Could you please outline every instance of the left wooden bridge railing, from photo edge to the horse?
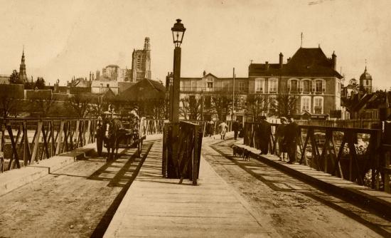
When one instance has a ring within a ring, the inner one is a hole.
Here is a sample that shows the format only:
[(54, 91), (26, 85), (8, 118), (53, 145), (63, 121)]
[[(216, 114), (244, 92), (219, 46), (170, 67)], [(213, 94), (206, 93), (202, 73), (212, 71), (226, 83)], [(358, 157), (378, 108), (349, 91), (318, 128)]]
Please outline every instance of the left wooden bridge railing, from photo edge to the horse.
[(39, 160), (95, 142), (97, 120), (90, 118), (0, 119), (0, 171), (31, 165)]

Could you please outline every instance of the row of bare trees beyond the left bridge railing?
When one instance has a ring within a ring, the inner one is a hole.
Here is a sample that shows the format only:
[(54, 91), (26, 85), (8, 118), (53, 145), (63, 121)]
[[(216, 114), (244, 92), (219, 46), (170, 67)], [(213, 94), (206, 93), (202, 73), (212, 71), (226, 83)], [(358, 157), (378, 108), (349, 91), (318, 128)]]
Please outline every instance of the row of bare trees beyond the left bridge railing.
[(30, 114), (33, 117), (97, 117), (114, 105), (115, 113), (126, 114), (134, 106), (140, 115), (161, 119), (166, 116), (166, 100), (121, 101), (102, 95), (74, 94), (66, 100), (55, 98), (16, 98), (12, 93), (0, 93), (0, 111), (3, 118)]

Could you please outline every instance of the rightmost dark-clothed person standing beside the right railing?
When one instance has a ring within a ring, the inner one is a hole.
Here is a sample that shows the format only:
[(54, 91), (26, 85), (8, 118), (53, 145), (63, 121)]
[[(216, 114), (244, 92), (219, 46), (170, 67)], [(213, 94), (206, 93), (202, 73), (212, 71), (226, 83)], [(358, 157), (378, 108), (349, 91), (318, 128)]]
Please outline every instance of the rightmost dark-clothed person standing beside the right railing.
[(289, 164), (296, 162), (297, 138), (299, 135), (299, 125), (294, 122), (294, 118), (288, 118), (289, 124), (285, 126), (284, 130), (284, 145), (286, 152), (288, 152)]

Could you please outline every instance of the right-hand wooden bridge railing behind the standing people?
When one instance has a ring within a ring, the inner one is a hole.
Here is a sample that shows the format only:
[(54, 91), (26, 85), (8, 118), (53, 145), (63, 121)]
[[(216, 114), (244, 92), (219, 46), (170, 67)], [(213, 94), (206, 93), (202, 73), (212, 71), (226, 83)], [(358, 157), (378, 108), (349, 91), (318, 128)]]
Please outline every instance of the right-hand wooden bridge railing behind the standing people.
[[(259, 149), (259, 123), (245, 123), (245, 145)], [(279, 124), (271, 124), (269, 151), (275, 152), (274, 132)], [(380, 158), (382, 130), (299, 125), (296, 161), (328, 172), (359, 185), (380, 188), (380, 172), (385, 163)], [(387, 170), (390, 171), (390, 170)]]

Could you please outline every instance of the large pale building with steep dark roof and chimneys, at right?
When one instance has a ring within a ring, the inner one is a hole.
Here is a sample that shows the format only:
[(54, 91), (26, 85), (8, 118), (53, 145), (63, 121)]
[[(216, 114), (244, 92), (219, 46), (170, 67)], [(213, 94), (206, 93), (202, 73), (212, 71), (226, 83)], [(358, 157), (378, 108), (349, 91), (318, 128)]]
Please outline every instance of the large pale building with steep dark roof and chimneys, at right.
[(299, 48), (284, 63), (251, 63), (249, 93), (266, 95), (268, 100), (287, 93), (297, 97), (296, 114), (330, 115), (341, 110), (341, 78), (336, 71), (336, 54), (327, 58), (321, 48)]

